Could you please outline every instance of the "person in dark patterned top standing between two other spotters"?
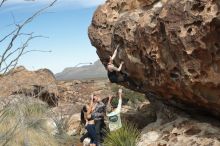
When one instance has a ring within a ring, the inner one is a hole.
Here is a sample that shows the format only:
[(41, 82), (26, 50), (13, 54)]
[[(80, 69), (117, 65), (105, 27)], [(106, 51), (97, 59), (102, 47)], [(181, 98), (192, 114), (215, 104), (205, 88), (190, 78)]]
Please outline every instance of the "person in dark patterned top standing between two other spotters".
[(94, 102), (92, 116), (94, 117), (94, 120), (95, 120), (97, 146), (100, 146), (102, 139), (103, 139), (103, 135), (104, 135), (103, 130), (106, 128), (105, 122), (104, 122), (106, 106), (101, 101), (101, 98), (99, 95), (96, 94), (92, 96), (93, 96), (93, 102)]

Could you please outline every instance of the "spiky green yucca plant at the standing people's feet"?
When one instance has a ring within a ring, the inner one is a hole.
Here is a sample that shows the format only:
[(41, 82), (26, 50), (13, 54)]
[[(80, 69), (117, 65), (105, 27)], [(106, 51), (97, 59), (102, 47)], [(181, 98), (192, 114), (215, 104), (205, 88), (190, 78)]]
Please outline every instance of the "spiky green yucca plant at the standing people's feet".
[(114, 132), (107, 132), (104, 146), (136, 146), (139, 137), (140, 132), (136, 126), (125, 122), (122, 128)]

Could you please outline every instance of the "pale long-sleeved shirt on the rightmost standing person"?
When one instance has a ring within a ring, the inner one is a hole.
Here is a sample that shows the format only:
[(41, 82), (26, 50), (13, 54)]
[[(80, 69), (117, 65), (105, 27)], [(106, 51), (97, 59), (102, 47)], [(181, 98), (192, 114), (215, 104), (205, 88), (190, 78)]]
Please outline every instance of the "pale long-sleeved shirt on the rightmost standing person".
[(121, 116), (120, 116), (121, 105), (122, 105), (122, 99), (119, 98), (117, 108), (113, 112), (107, 114), (110, 131), (115, 131), (122, 127)]

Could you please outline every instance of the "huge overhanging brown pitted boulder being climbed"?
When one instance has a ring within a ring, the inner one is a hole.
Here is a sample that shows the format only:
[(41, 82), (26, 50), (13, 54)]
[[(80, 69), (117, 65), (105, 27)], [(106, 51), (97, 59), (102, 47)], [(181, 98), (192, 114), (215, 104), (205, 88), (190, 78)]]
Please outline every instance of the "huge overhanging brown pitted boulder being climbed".
[(104, 66), (119, 45), (139, 92), (220, 117), (219, 0), (107, 0), (89, 38)]

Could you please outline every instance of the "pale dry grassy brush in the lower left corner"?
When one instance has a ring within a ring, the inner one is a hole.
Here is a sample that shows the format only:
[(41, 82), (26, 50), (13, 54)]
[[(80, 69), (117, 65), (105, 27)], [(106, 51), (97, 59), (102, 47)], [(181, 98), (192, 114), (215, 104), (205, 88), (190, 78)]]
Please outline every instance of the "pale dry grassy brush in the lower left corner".
[(58, 134), (57, 126), (49, 114), (48, 106), (37, 99), (19, 99), (8, 104), (0, 111), (0, 145), (66, 145), (71, 138)]

